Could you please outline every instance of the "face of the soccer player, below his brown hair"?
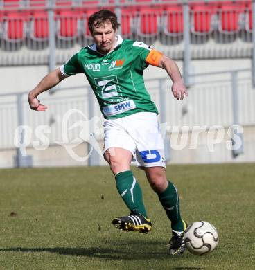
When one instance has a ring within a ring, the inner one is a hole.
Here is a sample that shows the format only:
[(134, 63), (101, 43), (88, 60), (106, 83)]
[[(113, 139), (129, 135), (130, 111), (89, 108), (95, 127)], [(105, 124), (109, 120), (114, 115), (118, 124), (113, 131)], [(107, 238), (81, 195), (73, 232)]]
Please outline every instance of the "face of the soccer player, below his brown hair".
[(93, 33), (91, 35), (100, 53), (107, 54), (114, 49), (116, 30), (112, 28), (110, 21), (105, 21), (105, 24), (99, 27), (93, 26)]

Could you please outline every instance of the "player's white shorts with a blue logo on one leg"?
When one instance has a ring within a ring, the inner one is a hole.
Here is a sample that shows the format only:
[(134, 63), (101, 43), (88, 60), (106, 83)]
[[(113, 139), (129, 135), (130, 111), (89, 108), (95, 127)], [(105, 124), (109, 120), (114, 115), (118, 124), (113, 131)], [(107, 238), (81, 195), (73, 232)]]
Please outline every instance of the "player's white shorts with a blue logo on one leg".
[(108, 119), (104, 123), (103, 154), (111, 147), (132, 152), (137, 167), (164, 167), (164, 142), (159, 130), (157, 114), (139, 112), (123, 118)]

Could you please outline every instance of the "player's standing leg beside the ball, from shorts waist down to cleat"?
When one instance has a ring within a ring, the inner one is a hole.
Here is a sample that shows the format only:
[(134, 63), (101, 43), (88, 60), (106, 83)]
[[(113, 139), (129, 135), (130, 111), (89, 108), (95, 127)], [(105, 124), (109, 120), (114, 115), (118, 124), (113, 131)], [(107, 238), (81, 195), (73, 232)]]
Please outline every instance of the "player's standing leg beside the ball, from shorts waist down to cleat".
[[(183, 222), (179, 210), (179, 197), (177, 188), (166, 179), (166, 161), (164, 158), (164, 142), (160, 133), (156, 114), (137, 114), (133, 121), (137, 128), (130, 129), (132, 138), (137, 145), (137, 166), (143, 167), (152, 189), (157, 192), (159, 201), (166, 210), (171, 221), (173, 237), (170, 239), (170, 253), (172, 255), (183, 253), (183, 233), (186, 223)], [(141, 127), (143, 127), (141, 129)]]

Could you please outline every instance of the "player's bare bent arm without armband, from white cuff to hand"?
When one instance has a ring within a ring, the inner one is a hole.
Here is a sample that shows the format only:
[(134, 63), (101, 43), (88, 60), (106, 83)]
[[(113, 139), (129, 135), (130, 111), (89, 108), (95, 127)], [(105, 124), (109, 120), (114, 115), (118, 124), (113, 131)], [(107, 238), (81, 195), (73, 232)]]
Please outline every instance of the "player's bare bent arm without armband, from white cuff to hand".
[(47, 107), (40, 103), (37, 99), (37, 96), (46, 91), (55, 87), (55, 85), (59, 84), (66, 76), (62, 75), (60, 68), (55, 69), (48, 73), (42, 80), (37, 84), (37, 86), (28, 93), (28, 103), (30, 108), (35, 111), (45, 111)]

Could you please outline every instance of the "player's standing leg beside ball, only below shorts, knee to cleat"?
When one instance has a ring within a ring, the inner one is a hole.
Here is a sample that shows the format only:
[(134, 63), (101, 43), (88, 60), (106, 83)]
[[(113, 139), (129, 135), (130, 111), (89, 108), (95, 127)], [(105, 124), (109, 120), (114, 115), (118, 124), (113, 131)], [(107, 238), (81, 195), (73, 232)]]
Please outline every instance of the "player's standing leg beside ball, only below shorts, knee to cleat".
[(171, 255), (182, 254), (185, 250), (183, 235), (186, 230), (186, 222), (181, 217), (177, 188), (166, 179), (164, 167), (143, 167), (143, 170), (171, 221), (173, 235), (169, 241), (169, 252)]

